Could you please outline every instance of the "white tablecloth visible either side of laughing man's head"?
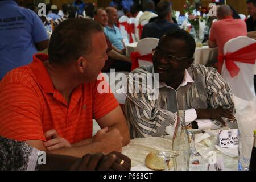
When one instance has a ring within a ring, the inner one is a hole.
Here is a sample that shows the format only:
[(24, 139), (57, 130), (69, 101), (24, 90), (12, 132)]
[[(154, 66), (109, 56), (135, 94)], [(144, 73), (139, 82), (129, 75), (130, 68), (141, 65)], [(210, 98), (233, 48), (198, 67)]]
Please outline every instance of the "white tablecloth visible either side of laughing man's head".
[[(126, 55), (136, 50), (137, 42), (127, 45)], [(209, 46), (196, 47), (194, 64), (207, 65), (218, 59), (218, 48), (209, 48)]]

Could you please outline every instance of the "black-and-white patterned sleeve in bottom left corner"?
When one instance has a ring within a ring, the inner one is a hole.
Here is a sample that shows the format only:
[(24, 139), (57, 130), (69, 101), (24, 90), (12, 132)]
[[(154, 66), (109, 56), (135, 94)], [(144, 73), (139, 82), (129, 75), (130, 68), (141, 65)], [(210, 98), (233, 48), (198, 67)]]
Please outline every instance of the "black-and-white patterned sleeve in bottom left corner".
[(0, 171), (34, 171), (38, 164), (39, 150), (24, 142), (0, 136)]

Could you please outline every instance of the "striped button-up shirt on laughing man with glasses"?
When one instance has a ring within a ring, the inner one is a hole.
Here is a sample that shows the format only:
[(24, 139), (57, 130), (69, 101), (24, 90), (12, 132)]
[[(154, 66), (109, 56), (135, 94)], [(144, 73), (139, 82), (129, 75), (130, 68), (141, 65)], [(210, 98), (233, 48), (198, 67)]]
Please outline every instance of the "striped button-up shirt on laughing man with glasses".
[[(174, 126), (178, 109), (207, 109), (218, 108), (234, 109), (234, 103), (227, 82), (218, 74), (216, 69), (204, 65), (191, 65), (187, 70), (194, 82), (179, 86), (177, 90), (164, 86), (158, 87), (158, 97), (153, 97), (155, 86), (144, 85), (139, 81), (139, 92), (127, 92), (125, 114), (128, 120), (130, 135), (137, 137), (163, 137), (166, 135), (166, 126)], [(127, 78), (127, 87), (143, 77), (148, 80), (148, 74), (154, 73), (153, 66), (135, 69)], [(155, 79), (154, 75), (152, 80)], [(138, 82), (138, 81), (137, 81)], [(152, 81), (154, 82), (154, 81)], [(146, 92), (142, 92), (146, 90)], [(218, 121), (212, 121), (221, 126)]]

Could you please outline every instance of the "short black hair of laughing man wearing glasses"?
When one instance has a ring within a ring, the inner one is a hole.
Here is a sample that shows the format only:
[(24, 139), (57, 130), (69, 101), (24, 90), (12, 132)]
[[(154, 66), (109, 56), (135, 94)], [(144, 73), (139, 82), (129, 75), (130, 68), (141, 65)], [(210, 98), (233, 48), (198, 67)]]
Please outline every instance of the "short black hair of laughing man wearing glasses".
[(166, 39), (168, 38), (168, 40), (170, 39), (179, 39), (179, 40), (183, 40), (185, 42), (185, 44), (187, 45), (187, 57), (193, 57), (195, 50), (196, 50), (196, 42), (195, 39), (185, 30), (183, 29), (176, 29), (176, 30), (172, 30), (172, 31), (168, 31), (166, 32), (166, 34), (164, 34), (162, 36), (162, 38), (160, 38), (159, 43), (166, 41)]

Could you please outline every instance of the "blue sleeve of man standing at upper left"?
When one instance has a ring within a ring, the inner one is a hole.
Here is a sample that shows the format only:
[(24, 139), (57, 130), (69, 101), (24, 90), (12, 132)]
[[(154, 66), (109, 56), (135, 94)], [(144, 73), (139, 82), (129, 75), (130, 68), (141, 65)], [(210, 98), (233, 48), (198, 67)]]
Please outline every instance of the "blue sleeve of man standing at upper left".
[(42, 42), (49, 39), (42, 20), (33, 12), (32, 37), (34, 42)]

